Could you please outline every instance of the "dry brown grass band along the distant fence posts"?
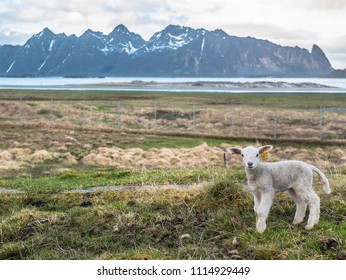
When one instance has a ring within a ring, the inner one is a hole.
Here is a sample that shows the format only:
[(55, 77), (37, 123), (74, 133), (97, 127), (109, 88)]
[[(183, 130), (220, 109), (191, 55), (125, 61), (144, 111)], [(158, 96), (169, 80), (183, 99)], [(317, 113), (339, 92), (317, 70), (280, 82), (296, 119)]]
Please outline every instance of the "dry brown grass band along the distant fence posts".
[[(109, 101), (55, 101), (53, 105), (50, 101), (26, 101), (23, 102), (22, 115), (20, 115), (19, 102), (1, 101), (0, 119), (3, 123), (19, 123), (23, 120), (24, 123), (114, 128), (118, 126), (118, 118), (120, 118), (122, 128), (153, 130), (155, 127), (154, 108), (154, 102), (150, 104), (128, 101), (121, 104), (120, 115), (118, 115), (116, 103), (112, 104)], [(320, 112), (318, 109), (197, 105), (194, 120), (191, 104), (161, 103), (157, 105), (156, 130), (271, 138), (275, 132), (275, 114), (277, 138), (319, 139)], [(345, 138), (345, 123), (345, 112), (325, 111), (323, 113), (325, 139)]]

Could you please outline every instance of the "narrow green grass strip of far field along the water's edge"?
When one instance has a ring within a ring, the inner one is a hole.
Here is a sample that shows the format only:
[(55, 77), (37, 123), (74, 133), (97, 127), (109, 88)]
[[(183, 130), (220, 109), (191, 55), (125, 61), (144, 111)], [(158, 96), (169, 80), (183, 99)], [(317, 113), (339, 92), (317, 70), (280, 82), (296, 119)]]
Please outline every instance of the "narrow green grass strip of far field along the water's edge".
[[(160, 92), (121, 92), (121, 91), (67, 91), (67, 90), (17, 90), (0, 89), (0, 99), (25, 100), (103, 100), (103, 101), (141, 101), (145, 106), (153, 106), (156, 102), (166, 104), (183, 103), (187, 106), (199, 105), (249, 105), (280, 108), (319, 108), (346, 107), (346, 93), (160, 93)], [(154, 103), (153, 103), (154, 102)], [(102, 104), (102, 103), (100, 103)], [(114, 103), (115, 104), (115, 103)], [(100, 110), (104, 110), (100, 105)], [(115, 105), (114, 105), (115, 106)]]

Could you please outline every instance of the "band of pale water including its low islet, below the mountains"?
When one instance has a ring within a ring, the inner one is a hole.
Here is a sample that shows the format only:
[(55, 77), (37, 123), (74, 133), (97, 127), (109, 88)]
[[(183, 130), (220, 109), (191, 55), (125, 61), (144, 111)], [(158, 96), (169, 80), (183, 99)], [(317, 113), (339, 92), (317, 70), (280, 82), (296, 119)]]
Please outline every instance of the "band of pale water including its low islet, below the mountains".
[(346, 79), (324, 78), (164, 78), (164, 77), (46, 77), (1, 78), (0, 89), (144, 91), (144, 92), (338, 92)]

